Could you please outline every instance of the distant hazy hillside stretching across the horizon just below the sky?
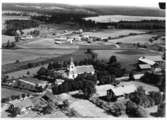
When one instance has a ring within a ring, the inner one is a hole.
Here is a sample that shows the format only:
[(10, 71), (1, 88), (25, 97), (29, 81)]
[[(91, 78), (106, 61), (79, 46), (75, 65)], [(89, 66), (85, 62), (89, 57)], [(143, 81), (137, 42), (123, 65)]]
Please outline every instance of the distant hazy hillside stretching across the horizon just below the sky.
[(156, 8), (120, 7), (120, 6), (74, 6), (66, 4), (40, 3), (3, 3), (2, 10), (37, 12), (42, 14), (81, 14), (94, 15), (130, 15), (130, 16), (165, 16), (165, 11)]

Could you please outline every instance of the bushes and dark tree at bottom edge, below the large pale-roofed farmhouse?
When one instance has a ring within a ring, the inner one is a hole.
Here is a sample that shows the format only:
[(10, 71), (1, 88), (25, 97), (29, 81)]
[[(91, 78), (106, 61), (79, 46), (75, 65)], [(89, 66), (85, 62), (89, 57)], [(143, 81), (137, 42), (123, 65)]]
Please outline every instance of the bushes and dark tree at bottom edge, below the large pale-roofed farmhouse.
[(127, 114), (129, 117), (148, 117), (147, 111), (135, 104), (132, 101), (123, 102), (116, 102), (116, 103), (108, 103), (99, 98), (91, 97), (90, 101), (96, 104), (98, 107), (101, 107), (106, 111), (108, 114), (112, 114), (114, 116), (121, 116), (123, 114)]

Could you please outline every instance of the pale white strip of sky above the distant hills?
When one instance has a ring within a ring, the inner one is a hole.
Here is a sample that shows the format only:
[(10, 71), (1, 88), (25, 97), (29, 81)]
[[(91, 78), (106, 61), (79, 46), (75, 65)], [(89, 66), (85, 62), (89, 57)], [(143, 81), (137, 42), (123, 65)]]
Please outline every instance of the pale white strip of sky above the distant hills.
[(35, 3), (63, 3), (70, 5), (111, 5), (111, 6), (137, 6), (158, 8), (158, 2), (165, 0), (2, 0), (2, 2), (35, 2)]

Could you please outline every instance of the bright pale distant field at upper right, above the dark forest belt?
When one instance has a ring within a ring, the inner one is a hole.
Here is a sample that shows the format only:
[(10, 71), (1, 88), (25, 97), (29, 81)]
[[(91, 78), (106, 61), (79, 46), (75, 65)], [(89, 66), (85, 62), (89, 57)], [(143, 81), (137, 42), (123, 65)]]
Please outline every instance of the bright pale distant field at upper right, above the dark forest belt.
[(103, 15), (97, 17), (87, 17), (86, 20), (95, 22), (119, 22), (119, 21), (141, 21), (141, 20), (165, 20), (165, 17), (127, 16), (127, 15)]

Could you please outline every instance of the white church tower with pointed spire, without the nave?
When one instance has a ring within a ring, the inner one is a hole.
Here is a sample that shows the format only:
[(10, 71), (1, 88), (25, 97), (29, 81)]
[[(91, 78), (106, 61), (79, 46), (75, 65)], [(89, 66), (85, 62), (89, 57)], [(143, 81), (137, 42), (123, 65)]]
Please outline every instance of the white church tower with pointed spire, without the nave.
[(78, 76), (77, 74), (77, 70), (76, 70), (76, 67), (75, 67), (75, 64), (73, 62), (73, 58), (71, 57), (71, 61), (70, 61), (70, 65), (69, 65), (69, 73), (68, 73), (68, 78), (69, 79), (74, 79)]

